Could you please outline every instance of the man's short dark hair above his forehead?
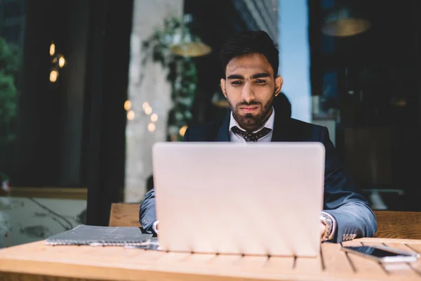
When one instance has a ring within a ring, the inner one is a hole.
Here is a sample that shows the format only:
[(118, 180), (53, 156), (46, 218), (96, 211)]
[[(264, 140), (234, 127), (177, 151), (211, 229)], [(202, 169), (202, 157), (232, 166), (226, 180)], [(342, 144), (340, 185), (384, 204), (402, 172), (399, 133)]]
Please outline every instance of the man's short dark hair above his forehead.
[(222, 45), (220, 60), (222, 63), (222, 70), (224, 71), (224, 77), (227, 65), (233, 58), (241, 55), (249, 55), (251, 53), (261, 53), (262, 55), (265, 55), (274, 70), (274, 76), (276, 77), (278, 75), (278, 48), (276, 48), (276, 45), (272, 38), (269, 37), (269, 34), (259, 30), (240, 32), (228, 39), (225, 44)]

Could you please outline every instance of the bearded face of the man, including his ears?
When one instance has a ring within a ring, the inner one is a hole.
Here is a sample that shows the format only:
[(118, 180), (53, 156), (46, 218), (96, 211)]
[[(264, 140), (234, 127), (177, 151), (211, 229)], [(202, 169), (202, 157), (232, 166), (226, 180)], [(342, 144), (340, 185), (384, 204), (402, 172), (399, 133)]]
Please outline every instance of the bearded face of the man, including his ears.
[(272, 101), (281, 91), (282, 77), (274, 78), (272, 66), (260, 53), (230, 60), (225, 77), (221, 89), (234, 119), (247, 131), (259, 129), (272, 113)]

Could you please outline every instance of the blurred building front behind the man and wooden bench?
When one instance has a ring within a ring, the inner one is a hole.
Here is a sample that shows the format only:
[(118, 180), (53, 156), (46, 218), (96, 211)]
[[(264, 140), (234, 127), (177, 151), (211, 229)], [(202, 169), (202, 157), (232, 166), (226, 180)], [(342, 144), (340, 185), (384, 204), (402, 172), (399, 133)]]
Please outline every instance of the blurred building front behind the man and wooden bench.
[[(0, 247), (152, 186), (152, 145), (222, 118), (222, 43), (265, 30), (288, 115), (327, 126), (373, 209), (421, 211), (417, 0), (0, 0)], [(290, 113), (289, 113), (290, 110)]]

